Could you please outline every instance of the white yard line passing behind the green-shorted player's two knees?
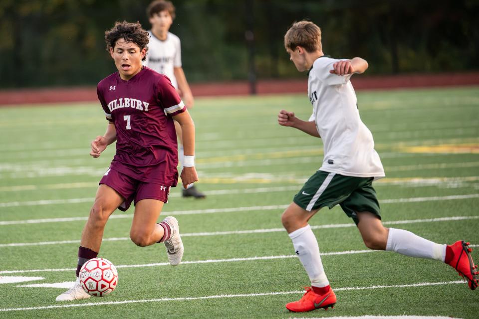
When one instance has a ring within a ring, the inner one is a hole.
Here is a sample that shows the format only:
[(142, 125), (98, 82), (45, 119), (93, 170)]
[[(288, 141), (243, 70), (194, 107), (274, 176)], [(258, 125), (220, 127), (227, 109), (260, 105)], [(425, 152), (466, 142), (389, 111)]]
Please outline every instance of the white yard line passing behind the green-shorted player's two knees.
[[(456, 220), (471, 220), (479, 219), (479, 216), (451, 216), (451, 217), (439, 217), (439, 218), (427, 218), (427, 219), (410, 219), (410, 220), (395, 220), (385, 221), (384, 225), (400, 225), (400, 224), (414, 224), (414, 223), (431, 223), (441, 221), (456, 221)], [(328, 225), (312, 225), (311, 229), (329, 229), (329, 228), (345, 228), (355, 227), (354, 223), (350, 224), (328, 224)], [(232, 231), (216, 231), (216, 232), (201, 232), (201, 233), (182, 233), (182, 237), (197, 237), (197, 236), (224, 236), (224, 235), (243, 235), (243, 234), (263, 234), (284, 232), (284, 228), (264, 228), (264, 229), (252, 229), (252, 230), (232, 230)], [(111, 237), (103, 238), (103, 241), (124, 241), (130, 240), (129, 237)], [(24, 247), (24, 246), (44, 246), (44, 245), (62, 245), (62, 244), (79, 244), (79, 240), (61, 240), (61, 241), (43, 241), (34, 243), (10, 243), (0, 244), (1, 247)], [(471, 247), (475, 247), (471, 245)]]

